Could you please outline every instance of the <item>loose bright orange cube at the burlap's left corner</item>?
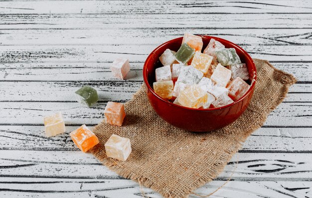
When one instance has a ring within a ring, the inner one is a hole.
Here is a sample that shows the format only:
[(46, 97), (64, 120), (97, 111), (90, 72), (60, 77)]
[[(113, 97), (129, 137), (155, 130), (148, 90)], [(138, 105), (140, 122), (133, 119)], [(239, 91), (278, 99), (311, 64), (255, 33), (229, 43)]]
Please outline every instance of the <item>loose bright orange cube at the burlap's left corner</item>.
[(83, 152), (87, 152), (95, 145), (99, 144), (96, 135), (86, 125), (82, 125), (78, 129), (69, 133), (75, 145)]

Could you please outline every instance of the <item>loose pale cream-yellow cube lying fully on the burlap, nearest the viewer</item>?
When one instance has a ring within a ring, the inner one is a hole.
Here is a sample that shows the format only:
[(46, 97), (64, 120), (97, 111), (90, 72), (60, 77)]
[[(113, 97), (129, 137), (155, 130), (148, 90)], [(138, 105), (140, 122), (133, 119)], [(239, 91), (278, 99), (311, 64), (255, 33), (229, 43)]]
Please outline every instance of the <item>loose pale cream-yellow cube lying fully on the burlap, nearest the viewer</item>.
[(132, 149), (129, 138), (123, 138), (113, 134), (105, 143), (106, 155), (120, 161), (126, 161)]

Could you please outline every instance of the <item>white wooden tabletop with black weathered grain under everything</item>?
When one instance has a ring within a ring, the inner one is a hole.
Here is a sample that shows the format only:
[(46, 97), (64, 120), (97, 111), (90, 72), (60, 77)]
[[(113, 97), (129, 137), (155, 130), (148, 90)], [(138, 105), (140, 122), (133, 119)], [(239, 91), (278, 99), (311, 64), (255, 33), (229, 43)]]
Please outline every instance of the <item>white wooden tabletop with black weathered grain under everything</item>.
[[(245, 142), (232, 181), (212, 197), (312, 198), (311, 0), (0, 0), (0, 198), (142, 196), (68, 133), (99, 123), (107, 101), (128, 101), (147, 55), (185, 31), (228, 39), (298, 78)], [(119, 56), (130, 59), (129, 80), (110, 73)], [(83, 85), (100, 96), (90, 109), (73, 96)], [(57, 111), (66, 134), (46, 138), (42, 117)], [(235, 161), (196, 192), (222, 185)]]

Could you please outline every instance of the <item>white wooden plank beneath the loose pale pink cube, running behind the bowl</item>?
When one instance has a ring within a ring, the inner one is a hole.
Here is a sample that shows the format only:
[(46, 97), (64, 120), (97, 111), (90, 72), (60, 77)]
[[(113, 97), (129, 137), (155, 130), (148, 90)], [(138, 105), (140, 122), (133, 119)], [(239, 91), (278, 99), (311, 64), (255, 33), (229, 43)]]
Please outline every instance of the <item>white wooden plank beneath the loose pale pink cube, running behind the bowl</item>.
[[(129, 81), (143, 81), (143, 62), (131, 62)], [(300, 81), (312, 81), (312, 62), (272, 63), (292, 73)], [(4, 81), (116, 81), (109, 63), (2, 63), (0, 80)]]

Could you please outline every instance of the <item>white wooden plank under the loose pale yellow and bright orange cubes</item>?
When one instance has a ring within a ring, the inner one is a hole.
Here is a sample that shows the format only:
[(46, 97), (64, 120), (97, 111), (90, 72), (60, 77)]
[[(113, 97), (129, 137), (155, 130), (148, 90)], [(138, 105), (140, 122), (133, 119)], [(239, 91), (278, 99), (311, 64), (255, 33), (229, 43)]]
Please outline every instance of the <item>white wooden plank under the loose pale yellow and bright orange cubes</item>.
[[(94, 125), (89, 125), (94, 126)], [(0, 150), (79, 151), (68, 133), (77, 126), (66, 126), (66, 133), (46, 138), (44, 127), (0, 126)], [(312, 152), (311, 127), (260, 128), (243, 144), (243, 152)]]

